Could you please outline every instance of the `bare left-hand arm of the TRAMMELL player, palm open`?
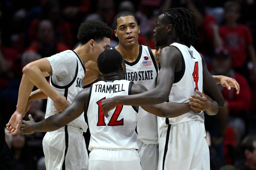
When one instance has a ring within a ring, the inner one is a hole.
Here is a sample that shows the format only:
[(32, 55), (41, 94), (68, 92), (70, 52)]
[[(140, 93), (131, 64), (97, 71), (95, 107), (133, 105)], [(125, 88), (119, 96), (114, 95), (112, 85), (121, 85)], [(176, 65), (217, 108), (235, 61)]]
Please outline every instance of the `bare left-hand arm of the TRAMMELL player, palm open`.
[(34, 132), (49, 132), (60, 129), (79, 117), (87, 108), (90, 88), (83, 89), (76, 95), (75, 100), (61, 114), (53, 115), (41, 122), (35, 122), (31, 115), (29, 121), (22, 121), (21, 134), (32, 134)]

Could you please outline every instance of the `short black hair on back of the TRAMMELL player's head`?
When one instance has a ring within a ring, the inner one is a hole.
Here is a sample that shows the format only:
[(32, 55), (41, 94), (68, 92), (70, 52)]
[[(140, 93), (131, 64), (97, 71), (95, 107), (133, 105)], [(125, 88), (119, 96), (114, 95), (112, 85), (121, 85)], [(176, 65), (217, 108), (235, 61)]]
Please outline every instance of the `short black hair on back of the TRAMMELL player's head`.
[(123, 61), (124, 59), (118, 51), (109, 49), (100, 53), (97, 64), (100, 72), (104, 74), (117, 72)]

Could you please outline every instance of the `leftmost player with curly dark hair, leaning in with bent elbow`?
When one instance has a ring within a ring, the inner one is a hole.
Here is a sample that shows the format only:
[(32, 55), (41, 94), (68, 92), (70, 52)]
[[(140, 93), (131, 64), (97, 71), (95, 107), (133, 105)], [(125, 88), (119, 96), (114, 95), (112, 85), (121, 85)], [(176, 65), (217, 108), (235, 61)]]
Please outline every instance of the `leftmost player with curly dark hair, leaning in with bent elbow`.
[[(80, 43), (75, 50), (66, 50), (26, 65), (20, 83), (17, 111), (7, 124), (11, 134), (19, 129), (19, 122), (26, 114), (25, 107), (34, 85), (41, 90), (41, 95), (37, 97), (48, 96), (45, 118), (58, 114), (59, 110), (63, 111), (72, 103), (84, 86), (84, 64), (88, 61), (96, 62), (98, 55), (109, 48), (111, 34), (112, 29), (103, 22), (82, 23), (77, 34)], [(49, 75), (48, 83), (44, 76)], [(66, 100), (66, 103), (63, 102), (65, 105), (61, 106), (59, 99)], [(10, 126), (16, 127), (15, 131)], [(84, 149), (83, 137), (87, 128), (84, 115), (80, 114), (65, 127), (46, 133), (43, 139), (46, 168), (88, 169), (88, 154)]]

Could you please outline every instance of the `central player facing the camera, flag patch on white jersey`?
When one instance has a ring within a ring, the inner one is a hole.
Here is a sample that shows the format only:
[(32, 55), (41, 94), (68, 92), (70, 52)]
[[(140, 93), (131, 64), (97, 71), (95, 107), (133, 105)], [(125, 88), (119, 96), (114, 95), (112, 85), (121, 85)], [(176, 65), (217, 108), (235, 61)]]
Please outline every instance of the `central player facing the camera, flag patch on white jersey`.
[[(136, 16), (129, 11), (120, 12), (114, 18), (114, 27), (119, 44), (112, 49), (119, 51), (124, 58), (126, 65), (125, 79), (133, 81), (135, 84), (141, 84), (148, 90), (155, 88), (158, 60), (156, 59), (154, 49), (139, 45), (138, 43), (140, 27), (138, 26)], [(220, 81), (222, 77), (214, 76), (214, 78), (216, 81)], [(230, 82), (235, 81), (230, 79), (232, 78), (228, 78)], [(137, 132), (138, 152), (142, 169), (157, 169), (158, 134), (156, 116), (149, 114), (143, 109), (139, 109)]]

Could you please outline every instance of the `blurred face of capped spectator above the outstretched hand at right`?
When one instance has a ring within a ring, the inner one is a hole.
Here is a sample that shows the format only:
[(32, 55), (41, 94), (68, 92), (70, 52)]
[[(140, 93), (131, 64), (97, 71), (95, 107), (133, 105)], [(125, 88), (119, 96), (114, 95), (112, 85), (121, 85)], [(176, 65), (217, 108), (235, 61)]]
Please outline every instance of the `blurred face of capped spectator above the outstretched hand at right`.
[(230, 69), (231, 57), (224, 54), (215, 55), (212, 59), (212, 68), (216, 74), (226, 74)]

